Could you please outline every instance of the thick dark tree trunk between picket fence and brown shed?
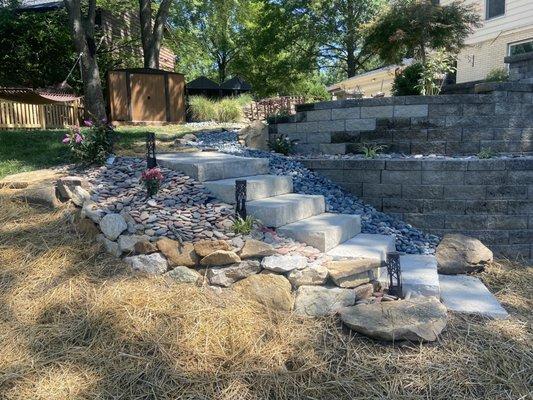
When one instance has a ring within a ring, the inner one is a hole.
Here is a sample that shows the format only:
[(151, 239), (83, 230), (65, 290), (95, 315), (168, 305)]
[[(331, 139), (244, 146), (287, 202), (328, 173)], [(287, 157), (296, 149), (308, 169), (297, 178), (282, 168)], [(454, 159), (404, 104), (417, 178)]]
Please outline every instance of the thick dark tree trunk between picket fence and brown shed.
[(81, 55), (85, 109), (92, 118), (101, 121), (106, 117), (106, 111), (100, 70), (96, 60), (96, 0), (88, 0), (86, 13), (82, 13), (81, 0), (64, 0), (64, 3), (74, 47)]

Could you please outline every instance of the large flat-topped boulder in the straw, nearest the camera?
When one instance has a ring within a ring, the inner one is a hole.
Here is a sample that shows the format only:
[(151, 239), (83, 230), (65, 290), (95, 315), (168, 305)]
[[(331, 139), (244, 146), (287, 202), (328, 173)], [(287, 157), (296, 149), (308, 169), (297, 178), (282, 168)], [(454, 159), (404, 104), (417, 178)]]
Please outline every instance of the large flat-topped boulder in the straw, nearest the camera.
[(352, 330), (387, 341), (434, 341), (447, 322), (446, 307), (432, 296), (360, 304), (340, 315)]

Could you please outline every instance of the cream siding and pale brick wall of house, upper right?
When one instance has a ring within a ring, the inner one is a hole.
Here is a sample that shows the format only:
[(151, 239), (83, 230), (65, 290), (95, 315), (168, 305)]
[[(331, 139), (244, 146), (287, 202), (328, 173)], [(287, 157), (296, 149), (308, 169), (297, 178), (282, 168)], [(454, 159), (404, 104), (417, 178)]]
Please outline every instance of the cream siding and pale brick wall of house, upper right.
[[(453, 0), (441, 0), (449, 4)], [(484, 79), (487, 73), (504, 67), (504, 57), (508, 45), (533, 39), (533, 0), (506, 0), (505, 15), (485, 20), (485, 0), (466, 0), (476, 5), (483, 26), (478, 28), (467, 40), (467, 46), (457, 60), (457, 82)]]

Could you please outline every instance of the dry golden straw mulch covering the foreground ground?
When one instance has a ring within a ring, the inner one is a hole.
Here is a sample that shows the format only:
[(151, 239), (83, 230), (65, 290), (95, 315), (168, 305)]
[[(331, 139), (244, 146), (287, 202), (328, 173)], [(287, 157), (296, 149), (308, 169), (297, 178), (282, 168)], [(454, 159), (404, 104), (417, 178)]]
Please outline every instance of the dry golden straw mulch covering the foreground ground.
[(133, 276), (69, 210), (0, 200), (1, 399), (529, 399), (533, 268), (481, 277), (508, 321), (452, 316), (440, 342), (380, 344)]

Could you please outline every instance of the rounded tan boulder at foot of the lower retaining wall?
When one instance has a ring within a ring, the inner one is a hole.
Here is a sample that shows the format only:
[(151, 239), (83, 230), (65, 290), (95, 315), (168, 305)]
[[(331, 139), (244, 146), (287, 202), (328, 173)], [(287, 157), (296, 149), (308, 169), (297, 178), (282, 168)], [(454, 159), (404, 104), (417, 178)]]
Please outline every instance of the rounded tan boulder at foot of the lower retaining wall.
[(482, 270), (493, 254), (478, 239), (461, 234), (445, 235), (436, 252), (440, 274), (467, 274)]

